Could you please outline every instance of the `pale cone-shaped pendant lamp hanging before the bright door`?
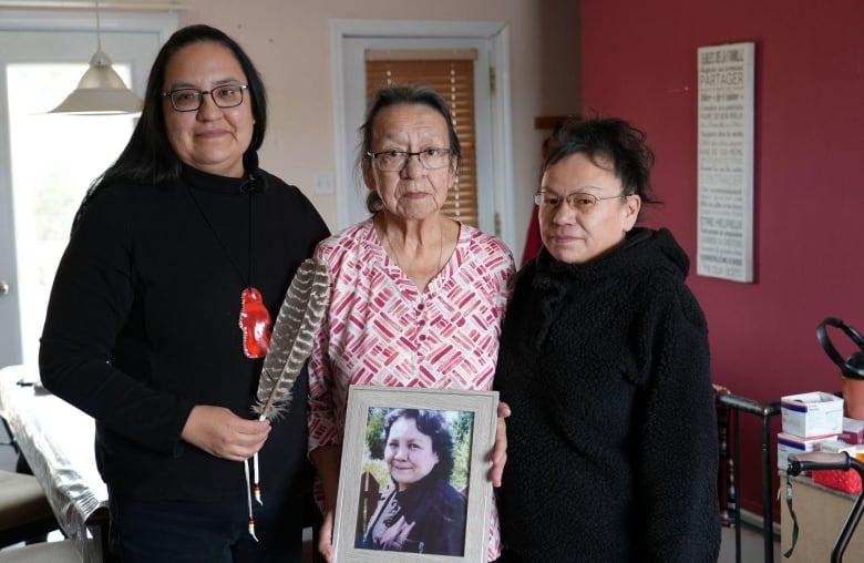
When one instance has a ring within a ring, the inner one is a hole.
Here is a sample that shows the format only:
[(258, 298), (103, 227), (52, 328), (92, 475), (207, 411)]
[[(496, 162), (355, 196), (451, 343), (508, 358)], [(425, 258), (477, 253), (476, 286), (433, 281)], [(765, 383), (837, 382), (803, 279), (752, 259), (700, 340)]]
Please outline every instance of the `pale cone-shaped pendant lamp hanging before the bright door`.
[(96, 52), (90, 59), (90, 69), (84, 72), (78, 88), (63, 100), (63, 103), (48, 113), (114, 115), (138, 113), (141, 106), (141, 98), (126, 88), (123, 79), (111, 65), (111, 59), (102, 50), (99, 0), (96, 0)]

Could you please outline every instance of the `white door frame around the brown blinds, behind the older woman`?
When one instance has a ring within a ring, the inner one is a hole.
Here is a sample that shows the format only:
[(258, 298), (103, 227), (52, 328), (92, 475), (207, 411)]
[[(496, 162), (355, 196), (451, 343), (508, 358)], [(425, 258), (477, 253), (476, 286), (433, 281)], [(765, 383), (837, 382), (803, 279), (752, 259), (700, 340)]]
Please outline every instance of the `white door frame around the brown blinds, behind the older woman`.
[(472, 39), (491, 44), (490, 64), (495, 69), (492, 92), (492, 183), (498, 235), (513, 247), (513, 143), (511, 123), (510, 25), (484, 21), (331, 20), (330, 54), (333, 79), (333, 147), (336, 158), (337, 229), (353, 223), (350, 205), (358, 188), (354, 181), (356, 129), (346, 122), (344, 42), (349, 38)]

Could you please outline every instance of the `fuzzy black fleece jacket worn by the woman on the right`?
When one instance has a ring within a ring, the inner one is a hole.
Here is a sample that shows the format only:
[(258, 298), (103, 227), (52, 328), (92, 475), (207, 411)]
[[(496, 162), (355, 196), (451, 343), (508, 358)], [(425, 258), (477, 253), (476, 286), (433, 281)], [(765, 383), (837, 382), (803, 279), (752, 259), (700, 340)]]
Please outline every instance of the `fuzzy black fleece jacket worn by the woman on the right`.
[(495, 386), (511, 562), (717, 561), (718, 436), (704, 316), (666, 231), (520, 273)]

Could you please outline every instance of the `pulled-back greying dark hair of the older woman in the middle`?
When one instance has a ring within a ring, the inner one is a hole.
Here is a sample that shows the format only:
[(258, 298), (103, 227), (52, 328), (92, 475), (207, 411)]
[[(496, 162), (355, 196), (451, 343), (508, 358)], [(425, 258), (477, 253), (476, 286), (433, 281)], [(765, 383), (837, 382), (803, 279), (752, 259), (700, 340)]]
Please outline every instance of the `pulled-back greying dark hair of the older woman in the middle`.
[[(453, 115), (446, 101), (444, 101), (441, 94), (423, 84), (395, 84), (384, 86), (376, 93), (374, 100), (372, 100), (366, 112), (366, 121), (358, 130), (361, 134), (361, 141), (357, 155), (357, 166), (362, 177), (368, 177), (372, 173), (372, 162), (367, 158), (366, 153), (372, 150), (372, 129), (376, 119), (382, 110), (398, 104), (426, 105), (444, 117), (448, 124), (448, 136), (450, 137), (450, 157), (456, 160), (456, 175), (459, 175), (462, 168), (462, 146), (459, 144), (456, 127), (453, 125)], [(383, 208), (383, 203), (378, 192), (369, 192), (366, 198), (366, 208), (372, 214)]]

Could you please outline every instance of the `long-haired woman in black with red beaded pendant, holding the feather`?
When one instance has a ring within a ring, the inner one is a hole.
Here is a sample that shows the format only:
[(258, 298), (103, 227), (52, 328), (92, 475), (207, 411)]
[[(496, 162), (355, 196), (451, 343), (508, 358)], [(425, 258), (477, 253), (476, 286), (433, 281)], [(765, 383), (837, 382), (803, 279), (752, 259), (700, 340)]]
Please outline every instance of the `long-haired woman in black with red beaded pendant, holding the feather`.
[[(272, 426), (251, 406), (271, 320), (328, 229), (258, 166), (266, 125), (264, 82), (237, 42), (175, 32), (56, 273), (42, 381), (96, 420), (125, 563), (300, 561), (305, 401)], [(243, 461), (256, 452), (267, 502), (253, 510)]]

